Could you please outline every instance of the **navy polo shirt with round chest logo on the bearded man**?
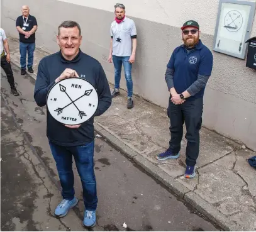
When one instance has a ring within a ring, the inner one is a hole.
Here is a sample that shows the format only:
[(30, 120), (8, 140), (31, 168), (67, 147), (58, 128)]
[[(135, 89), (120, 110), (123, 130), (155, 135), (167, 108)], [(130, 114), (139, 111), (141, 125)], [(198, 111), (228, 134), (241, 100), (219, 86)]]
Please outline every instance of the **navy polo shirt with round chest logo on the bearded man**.
[[(203, 45), (201, 40), (189, 52), (187, 52), (184, 45), (181, 45), (175, 48), (167, 67), (174, 70), (174, 88), (178, 94), (182, 94), (198, 79), (198, 75), (211, 75), (213, 54), (209, 48)], [(203, 97), (204, 89), (201, 89), (196, 95), (187, 98), (186, 101)]]

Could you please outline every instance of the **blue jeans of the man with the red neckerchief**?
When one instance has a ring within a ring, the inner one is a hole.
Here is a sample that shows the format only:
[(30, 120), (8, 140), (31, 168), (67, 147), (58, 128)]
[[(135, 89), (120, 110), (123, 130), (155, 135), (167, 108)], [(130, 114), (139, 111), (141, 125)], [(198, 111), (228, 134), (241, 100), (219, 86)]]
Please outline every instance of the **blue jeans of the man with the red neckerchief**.
[(121, 79), (121, 70), (122, 64), (125, 68), (125, 79), (128, 97), (133, 96), (133, 80), (131, 79), (131, 63), (128, 61), (130, 57), (117, 57), (113, 55), (113, 63), (114, 63), (114, 88), (120, 88), (120, 79)]

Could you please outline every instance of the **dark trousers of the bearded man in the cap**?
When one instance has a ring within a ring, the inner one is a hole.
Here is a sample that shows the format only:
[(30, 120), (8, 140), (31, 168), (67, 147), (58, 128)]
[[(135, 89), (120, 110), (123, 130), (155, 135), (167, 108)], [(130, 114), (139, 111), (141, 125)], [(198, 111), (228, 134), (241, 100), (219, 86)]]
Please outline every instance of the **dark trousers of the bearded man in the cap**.
[(199, 130), (202, 125), (203, 97), (193, 101), (185, 101), (183, 104), (175, 105), (169, 99), (167, 114), (170, 118), (170, 146), (169, 150), (178, 153), (181, 150), (183, 136), (183, 124), (186, 124), (186, 164), (196, 165), (199, 155)]

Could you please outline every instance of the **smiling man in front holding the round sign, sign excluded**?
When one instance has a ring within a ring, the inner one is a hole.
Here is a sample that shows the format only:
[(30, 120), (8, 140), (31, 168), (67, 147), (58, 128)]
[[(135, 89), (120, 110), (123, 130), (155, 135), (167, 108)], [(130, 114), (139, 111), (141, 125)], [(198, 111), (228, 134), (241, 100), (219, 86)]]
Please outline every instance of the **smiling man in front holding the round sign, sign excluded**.
[[(64, 21), (58, 27), (57, 42), (60, 52), (43, 58), (38, 65), (35, 101), (45, 106), (50, 88), (60, 80), (82, 77), (97, 91), (99, 104), (95, 116), (103, 114), (111, 105), (111, 92), (101, 64), (81, 52), (81, 28), (74, 21)], [(74, 191), (72, 156), (81, 177), (84, 205), (84, 226), (96, 225), (97, 190), (94, 175), (94, 119), (69, 126), (59, 123), (47, 110), (47, 137), (55, 159), (63, 201), (55, 209), (55, 216), (64, 217), (78, 200)]]

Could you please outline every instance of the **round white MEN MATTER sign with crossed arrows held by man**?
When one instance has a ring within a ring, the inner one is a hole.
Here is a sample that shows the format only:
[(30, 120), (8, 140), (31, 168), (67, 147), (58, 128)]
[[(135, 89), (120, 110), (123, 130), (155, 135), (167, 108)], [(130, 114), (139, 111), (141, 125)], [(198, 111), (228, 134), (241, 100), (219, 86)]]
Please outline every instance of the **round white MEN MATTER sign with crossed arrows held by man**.
[(87, 80), (72, 77), (57, 82), (48, 92), (47, 108), (57, 121), (76, 125), (89, 120), (96, 112), (97, 92)]

